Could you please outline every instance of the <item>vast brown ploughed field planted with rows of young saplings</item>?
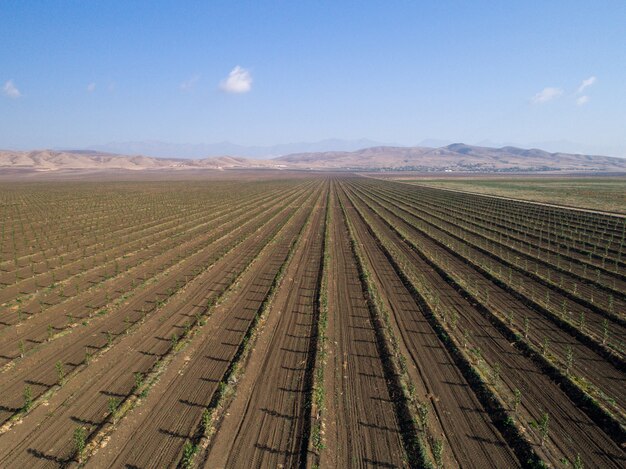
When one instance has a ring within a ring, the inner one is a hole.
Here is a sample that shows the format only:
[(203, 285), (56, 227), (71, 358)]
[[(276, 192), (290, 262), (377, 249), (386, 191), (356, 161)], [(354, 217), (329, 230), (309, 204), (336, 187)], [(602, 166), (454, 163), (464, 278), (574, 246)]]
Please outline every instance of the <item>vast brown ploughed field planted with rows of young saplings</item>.
[(3, 182), (0, 467), (626, 466), (626, 217), (226, 173)]

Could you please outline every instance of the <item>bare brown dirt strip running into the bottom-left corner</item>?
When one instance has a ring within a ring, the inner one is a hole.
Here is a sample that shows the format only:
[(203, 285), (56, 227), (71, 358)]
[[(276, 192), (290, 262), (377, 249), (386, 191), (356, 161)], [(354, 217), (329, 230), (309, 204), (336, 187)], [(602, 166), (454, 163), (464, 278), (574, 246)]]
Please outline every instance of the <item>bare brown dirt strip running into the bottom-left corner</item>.
[[(71, 441), (74, 428), (83, 426), (89, 429), (89, 435), (111, 424), (110, 399), (118, 399), (121, 404), (132, 396), (137, 373), (146, 376), (163, 357), (176, 349), (172, 335), (181, 337), (187, 327), (206, 315), (210, 305), (258, 255), (293, 210), (292, 207), (284, 208), (282, 222), (279, 218), (275, 224), (265, 223), (256, 235), (187, 287), (183, 295), (165, 305), (158, 314), (151, 315), (134, 334), (124, 337), (97, 360), (96, 367), (88, 367), (76, 375), (73, 386), (68, 386), (69, 383), (63, 386), (62, 392), (54, 396), (56, 411), (52, 415), (46, 414), (43, 424), (37, 423), (42, 416), (32, 413), (32, 418), (31, 414), (27, 416), (29, 425), (24, 422), (2, 435), (0, 462), (25, 464), (30, 461), (28, 464), (33, 465), (50, 459), (62, 463), (71, 460), (74, 456)], [(36, 410), (43, 408), (40, 406)], [(20, 443), (15, 445), (16, 434), (24, 432), (27, 436), (17, 437)]]

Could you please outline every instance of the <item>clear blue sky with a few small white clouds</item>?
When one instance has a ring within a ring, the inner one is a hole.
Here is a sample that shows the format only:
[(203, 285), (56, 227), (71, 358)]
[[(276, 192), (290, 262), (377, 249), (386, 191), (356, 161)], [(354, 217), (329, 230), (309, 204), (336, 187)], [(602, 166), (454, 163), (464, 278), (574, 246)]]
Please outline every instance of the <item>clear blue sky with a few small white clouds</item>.
[(626, 156), (624, 24), (624, 1), (0, 0), (0, 148), (365, 137)]

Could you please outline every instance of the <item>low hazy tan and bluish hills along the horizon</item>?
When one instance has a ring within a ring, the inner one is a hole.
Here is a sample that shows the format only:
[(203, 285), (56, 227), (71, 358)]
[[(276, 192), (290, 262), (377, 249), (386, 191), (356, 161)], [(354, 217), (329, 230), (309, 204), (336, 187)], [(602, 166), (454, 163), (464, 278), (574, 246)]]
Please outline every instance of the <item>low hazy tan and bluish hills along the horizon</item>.
[(626, 158), (549, 153), (512, 146), (454, 143), (439, 148), (374, 146), (356, 151), (301, 152), (271, 159), (124, 156), (98, 151), (0, 151), (0, 171), (312, 169), (356, 171), (606, 171), (625, 172)]

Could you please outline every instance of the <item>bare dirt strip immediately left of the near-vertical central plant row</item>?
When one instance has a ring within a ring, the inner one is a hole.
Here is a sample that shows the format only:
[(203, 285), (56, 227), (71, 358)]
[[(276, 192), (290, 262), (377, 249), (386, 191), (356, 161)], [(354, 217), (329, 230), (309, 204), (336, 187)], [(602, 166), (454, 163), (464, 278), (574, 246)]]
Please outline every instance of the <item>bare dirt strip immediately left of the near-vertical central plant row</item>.
[[(325, 192), (327, 189), (325, 189)], [(312, 216), (205, 457), (206, 468), (303, 467), (326, 194)]]

